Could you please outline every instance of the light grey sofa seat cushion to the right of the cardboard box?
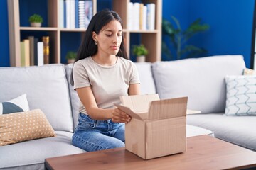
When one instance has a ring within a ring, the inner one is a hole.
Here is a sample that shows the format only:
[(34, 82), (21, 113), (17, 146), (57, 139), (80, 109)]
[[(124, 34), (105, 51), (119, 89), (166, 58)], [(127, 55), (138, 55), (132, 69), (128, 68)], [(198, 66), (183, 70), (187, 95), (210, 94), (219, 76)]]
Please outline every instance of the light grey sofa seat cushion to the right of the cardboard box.
[(256, 151), (256, 116), (225, 116), (224, 113), (187, 115), (188, 125), (214, 132), (215, 137)]

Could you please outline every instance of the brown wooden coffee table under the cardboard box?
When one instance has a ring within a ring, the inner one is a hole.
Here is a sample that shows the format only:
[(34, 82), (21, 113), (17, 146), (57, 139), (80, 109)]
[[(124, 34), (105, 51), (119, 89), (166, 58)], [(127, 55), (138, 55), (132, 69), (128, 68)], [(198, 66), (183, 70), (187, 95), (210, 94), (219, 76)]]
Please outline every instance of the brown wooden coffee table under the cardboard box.
[(46, 169), (246, 169), (256, 152), (208, 135), (188, 137), (187, 151), (144, 160), (122, 148), (46, 159)]

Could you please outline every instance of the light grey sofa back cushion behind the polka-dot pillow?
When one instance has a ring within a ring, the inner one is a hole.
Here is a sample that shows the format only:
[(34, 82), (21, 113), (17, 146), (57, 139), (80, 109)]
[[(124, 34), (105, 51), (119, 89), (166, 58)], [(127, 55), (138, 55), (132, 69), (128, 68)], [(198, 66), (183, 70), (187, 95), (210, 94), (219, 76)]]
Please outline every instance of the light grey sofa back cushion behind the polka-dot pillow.
[(0, 67), (0, 101), (26, 94), (29, 108), (46, 114), (54, 130), (73, 132), (68, 83), (63, 64)]

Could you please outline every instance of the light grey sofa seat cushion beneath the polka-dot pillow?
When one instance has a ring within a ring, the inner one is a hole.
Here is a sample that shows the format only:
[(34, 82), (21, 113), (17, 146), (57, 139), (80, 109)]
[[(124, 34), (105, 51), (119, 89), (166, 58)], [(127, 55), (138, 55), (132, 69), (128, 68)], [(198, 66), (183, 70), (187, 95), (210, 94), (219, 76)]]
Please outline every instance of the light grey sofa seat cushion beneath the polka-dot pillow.
[[(44, 169), (45, 159), (85, 152), (71, 143), (73, 133), (55, 131), (55, 137), (0, 147), (0, 169)], [(22, 167), (22, 168), (21, 168)]]

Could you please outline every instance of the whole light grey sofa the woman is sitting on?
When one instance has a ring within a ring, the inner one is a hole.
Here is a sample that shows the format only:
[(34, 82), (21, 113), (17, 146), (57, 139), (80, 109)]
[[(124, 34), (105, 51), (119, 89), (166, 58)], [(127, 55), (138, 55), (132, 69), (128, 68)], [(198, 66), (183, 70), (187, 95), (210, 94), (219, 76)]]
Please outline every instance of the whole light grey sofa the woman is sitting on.
[[(142, 94), (158, 93), (160, 98), (188, 96), (188, 108), (202, 111), (202, 114), (187, 116), (188, 136), (213, 131), (215, 137), (256, 150), (253, 142), (256, 141), (256, 118), (223, 116), (224, 78), (227, 74), (242, 74), (245, 69), (242, 56), (136, 65)], [(0, 169), (44, 169), (45, 158), (86, 152), (71, 144), (79, 104), (70, 86), (71, 69), (72, 64), (0, 67), (0, 102), (26, 94), (30, 109), (40, 108), (57, 134), (0, 147)]]

